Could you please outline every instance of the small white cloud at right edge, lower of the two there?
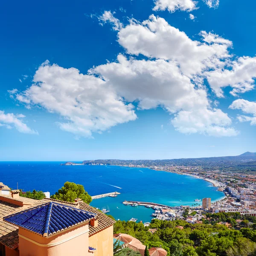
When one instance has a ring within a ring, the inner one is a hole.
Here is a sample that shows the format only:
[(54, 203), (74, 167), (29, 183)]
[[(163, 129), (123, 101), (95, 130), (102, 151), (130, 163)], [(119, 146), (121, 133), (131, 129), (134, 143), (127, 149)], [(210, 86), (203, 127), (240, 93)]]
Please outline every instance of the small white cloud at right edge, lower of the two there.
[(250, 102), (245, 99), (236, 99), (229, 106), (231, 109), (239, 109), (251, 116), (238, 115), (237, 118), (240, 122), (250, 122), (251, 125), (256, 125), (256, 102)]

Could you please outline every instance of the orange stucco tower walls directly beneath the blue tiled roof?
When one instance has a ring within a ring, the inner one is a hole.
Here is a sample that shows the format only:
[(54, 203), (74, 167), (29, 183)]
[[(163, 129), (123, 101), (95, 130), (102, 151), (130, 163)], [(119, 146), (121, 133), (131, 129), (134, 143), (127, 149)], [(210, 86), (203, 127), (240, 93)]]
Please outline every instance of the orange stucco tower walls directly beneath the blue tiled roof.
[[(28, 241), (19, 236), (20, 256), (90, 256), (91, 253), (88, 252), (89, 232), (79, 235), (88, 229), (88, 223), (81, 224), (73, 227), (72, 229), (68, 229), (45, 238), (19, 228), (19, 235), (39, 243), (33, 243), (32, 241)], [(73, 236), (76, 237), (73, 238)], [(61, 241), (64, 242), (49, 246), (49, 244), (54, 244)]]

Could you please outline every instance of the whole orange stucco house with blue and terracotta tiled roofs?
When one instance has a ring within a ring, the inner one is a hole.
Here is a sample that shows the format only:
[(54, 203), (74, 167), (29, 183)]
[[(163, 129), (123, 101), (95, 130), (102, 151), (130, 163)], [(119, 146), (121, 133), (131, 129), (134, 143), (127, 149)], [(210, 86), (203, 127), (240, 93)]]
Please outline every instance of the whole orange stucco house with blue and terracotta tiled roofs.
[(113, 223), (83, 201), (0, 195), (0, 256), (113, 256)]

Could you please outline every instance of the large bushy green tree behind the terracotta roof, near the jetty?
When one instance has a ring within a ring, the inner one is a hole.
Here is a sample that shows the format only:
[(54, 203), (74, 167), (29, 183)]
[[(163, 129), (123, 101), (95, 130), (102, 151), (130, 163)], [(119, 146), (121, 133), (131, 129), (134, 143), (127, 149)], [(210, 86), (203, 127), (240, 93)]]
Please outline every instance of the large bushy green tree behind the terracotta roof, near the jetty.
[(84, 190), (84, 186), (73, 182), (65, 182), (64, 186), (52, 195), (51, 198), (66, 202), (75, 202), (76, 198), (80, 198), (86, 204), (90, 204), (92, 198)]

